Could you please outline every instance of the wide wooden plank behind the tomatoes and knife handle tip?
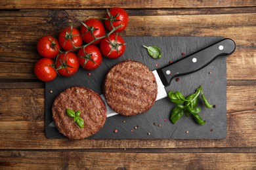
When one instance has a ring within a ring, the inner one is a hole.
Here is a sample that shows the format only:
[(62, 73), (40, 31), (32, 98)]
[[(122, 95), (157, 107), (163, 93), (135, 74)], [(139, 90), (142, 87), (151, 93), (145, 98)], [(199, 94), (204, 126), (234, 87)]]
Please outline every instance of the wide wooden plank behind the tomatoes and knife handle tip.
[[(251, 8), (249, 8), (251, 9)], [(235, 12), (233, 9), (232, 12)], [(39, 37), (46, 34), (57, 35), (58, 31), (74, 22), (79, 27), (79, 20), (89, 15), (104, 16), (104, 12), (91, 12), (87, 10), (27, 10), (24, 15), (19, 12), (1, 12), (0, 29), (5, 30), (0, 35), (0, 78), (22, 79), (31, 78), (33, 65), (41, 58), (36, 51), (36, 42)], [(89, 10), (91, 11), (91, 10)], [(136, 10), (131, 10), (134, 13)], [(146, 14), (150, 14), (148, 10)], [(149, 10), (151, 11), (151, 10)], [(200, 11), (200, 10), (196, 10)], [(221, 10), (223, 12), (223, 10)], [(156, 12), (156, 10), (154, 10)], [(228, 11), (230, 13), (230, 10)], [(251, 11), (253, 12), (253, 11)], [(129, 26), (122, 33), (123, 36), (224, 36), (234, 39), (237, 49), (227, 59), (228, 80), (255, 80), (256, 79), (256, 14), (168, 14), (166, 11), (156, 16), (130, 17)], [(182, 13), (182, 12), (181, 12)], [(13, 17), (17, 14), (16, 17)], [(33, 16), (35, 14), (35, 16)], [(165, 16), (165, 14), (167, 16)], [(29, 22), (28, 22), (29, 21)], [(140, 23), (138, 25), (137, 23)], [(43, 27), (41, 25), (44, 25)], [(5, 29), (8, 26), (8, 29)], [(170, 31), (171, 30), (171, 31)], [(9, 37), (9, 39), (6, 39)], [(16, 57), (18, 56), (18, 57)], [(235, 71), (234, 71), (235, 70)], [(239, 73), (239, 74), (238, 74)]]

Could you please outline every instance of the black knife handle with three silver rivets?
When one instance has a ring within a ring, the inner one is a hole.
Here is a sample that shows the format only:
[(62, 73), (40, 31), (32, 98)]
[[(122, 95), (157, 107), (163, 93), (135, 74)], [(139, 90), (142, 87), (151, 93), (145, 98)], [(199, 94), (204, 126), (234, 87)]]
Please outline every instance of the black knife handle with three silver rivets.
[(211, 63), (218, 56), (232, 54), (235, 49), (236, 43), (232, 39), (223, 39), (184, 58), (178, 59), (161, 69), (157, 69), (157, 72), (163, 85), (169, 86), (171, 80), (176, 76), (194, 73)]

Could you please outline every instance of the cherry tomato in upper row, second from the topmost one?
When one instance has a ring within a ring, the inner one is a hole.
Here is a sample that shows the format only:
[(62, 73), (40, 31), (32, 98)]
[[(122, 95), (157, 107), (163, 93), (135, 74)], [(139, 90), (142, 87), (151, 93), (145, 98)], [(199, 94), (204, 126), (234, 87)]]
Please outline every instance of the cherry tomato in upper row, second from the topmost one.
[[(86, 20), (83, 24), (85, 24), (86, 27), (85, 25), (81, 26), (81, 35), (83, 41), (85, 41), (86, 43), (95, 40), (95, 37), (102, 37), (105, 35), (104, 25), (99, 20), (89, 19)], [(95, 35), (95, 37), (93, 35)], [(93, 42), (92, 44), (98, 44), (100, 41), (101, 39)]]

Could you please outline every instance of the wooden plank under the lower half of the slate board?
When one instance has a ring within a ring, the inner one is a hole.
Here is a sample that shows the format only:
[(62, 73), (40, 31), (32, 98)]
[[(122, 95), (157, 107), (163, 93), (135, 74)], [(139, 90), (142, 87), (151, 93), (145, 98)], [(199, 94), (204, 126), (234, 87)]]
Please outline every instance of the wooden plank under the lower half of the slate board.
[(46, 139), (44, 125), (44, 89), (0, 89), (0, 148), (64, 149), (255, 147), (255, 93), (256, 86), (228, 86), (228, 130), (227, 137), (223, 140), (196, 140), (195, 142), (195, 140), (139, 141), (85, 139), (81, 141), (71, 141), (68, 139)]

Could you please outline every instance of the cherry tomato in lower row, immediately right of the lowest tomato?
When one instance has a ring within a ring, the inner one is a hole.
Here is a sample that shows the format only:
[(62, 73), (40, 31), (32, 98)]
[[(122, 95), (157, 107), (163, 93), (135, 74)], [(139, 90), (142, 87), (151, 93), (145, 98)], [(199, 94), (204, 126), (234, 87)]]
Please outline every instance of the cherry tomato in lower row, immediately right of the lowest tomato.
[(62, 53), (56, 59), (55, 68), (62, 76), (72, 76), (79, 69), (78, 58), (73, 52)]

